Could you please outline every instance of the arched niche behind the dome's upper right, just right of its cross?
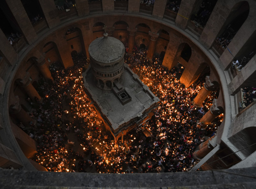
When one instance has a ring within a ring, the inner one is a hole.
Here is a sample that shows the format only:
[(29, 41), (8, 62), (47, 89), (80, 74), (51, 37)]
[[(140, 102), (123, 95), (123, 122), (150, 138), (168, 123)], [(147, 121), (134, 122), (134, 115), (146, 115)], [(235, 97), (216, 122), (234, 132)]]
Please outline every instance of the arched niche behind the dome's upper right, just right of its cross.
[(113, 24), (113, 28), (115, 28), (113, 32), (113, 37), (122, 41), (123, 44), (126, 44), (128, 42), (129, 34), (127, 31), (127, 27), (129, 27), (128, 23), (122, 20), (116, 21)]

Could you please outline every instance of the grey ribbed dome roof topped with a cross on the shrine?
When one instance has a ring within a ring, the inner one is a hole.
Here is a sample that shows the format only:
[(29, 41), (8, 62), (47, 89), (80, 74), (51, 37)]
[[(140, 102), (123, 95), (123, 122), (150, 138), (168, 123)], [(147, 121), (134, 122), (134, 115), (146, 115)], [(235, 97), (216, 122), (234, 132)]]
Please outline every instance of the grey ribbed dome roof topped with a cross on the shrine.
[(108, 33), (104, 33), (104, 37), (91, 42), (89, 54), (91, 58), (98, 62), (114, 62), (124, 55), (124, 45), (118, 39), (109, 37)]

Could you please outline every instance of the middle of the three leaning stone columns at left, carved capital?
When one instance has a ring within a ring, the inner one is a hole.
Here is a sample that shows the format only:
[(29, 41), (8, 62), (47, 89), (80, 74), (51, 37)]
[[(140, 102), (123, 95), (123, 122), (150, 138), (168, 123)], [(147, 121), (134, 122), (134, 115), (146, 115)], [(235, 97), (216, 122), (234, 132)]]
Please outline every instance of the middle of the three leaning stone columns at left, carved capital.
[(31, 100), (34, 101), (35, 97), (37, 97), (40, 101), (42, 98), (40, 97), (34, 86), (31, 84), (29, 77), (30, 74), (27, 72), (26, 76), (23, 78), (23, 80), (20, 81), (19, 84), (24, 88), (24, 90), (26, 91), (27, 95)]

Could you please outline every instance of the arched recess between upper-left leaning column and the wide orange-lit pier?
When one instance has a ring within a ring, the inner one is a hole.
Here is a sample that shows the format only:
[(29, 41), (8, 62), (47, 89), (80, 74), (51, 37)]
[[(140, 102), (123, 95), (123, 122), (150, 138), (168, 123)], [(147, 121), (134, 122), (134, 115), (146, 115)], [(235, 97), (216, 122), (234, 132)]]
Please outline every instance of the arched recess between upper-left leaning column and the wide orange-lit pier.
[(45, 53), (45, 58), (50, 60), (51, 63), (60, 63), (63, 65), (58, 47), (55, 42), (49, 41), (46, 43), (43, 47), (43, 53)]

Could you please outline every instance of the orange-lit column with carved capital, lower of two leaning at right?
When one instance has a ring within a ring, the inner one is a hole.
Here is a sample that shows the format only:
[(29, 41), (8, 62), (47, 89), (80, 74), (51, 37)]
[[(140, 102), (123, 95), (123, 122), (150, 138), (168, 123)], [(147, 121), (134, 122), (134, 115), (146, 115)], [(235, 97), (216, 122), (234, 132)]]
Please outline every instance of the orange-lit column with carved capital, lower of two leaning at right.
[(209, 123), (222, 113), (223, 109), (217, 106), (217, 99), (213, 99), (210, 110), (200, 119), (202, 126), (199, 126), (198, 128), (206, 128)]

